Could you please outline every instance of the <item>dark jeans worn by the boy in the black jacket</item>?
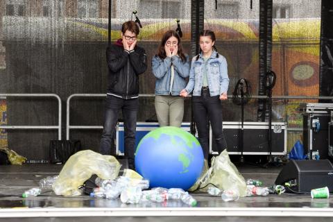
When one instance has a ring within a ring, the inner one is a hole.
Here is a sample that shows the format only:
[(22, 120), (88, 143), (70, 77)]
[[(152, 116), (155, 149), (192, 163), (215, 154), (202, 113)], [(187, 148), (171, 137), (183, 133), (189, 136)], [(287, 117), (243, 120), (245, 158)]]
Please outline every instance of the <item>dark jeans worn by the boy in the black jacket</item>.
[[(105, 121), (100, 153), (103, 155), (115, 155), (114, 146), (112, 145), (112, 136), (118, 121), (118, 114), (123, 112), (123, 127), (125, 130), (125, 155), (128, 157), (128, 167), (134, 169), (135, 153), (135, 132), (137, 127), (137, 108), (138, 99), (121, 99), (108, 95), (105, 104)], [(112, 148), (112, 150), (111, 150)]]

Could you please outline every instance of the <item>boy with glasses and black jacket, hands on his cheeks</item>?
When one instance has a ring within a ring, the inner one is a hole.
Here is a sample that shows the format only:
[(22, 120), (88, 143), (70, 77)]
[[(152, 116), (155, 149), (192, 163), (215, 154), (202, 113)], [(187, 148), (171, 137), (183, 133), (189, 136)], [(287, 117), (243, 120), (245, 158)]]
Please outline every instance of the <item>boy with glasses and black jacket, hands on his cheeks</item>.
[(133, 21), (125, 22), (121, 26), (121, 39), (108, 46), (106, 50), (109, 69), (108, 92), (100, 145), (101, 154), (116, 154), (112, 146), (112, 135), (121, 110), (125, 129), (125, 155), (128, 157), (128, 168), (133, 170), (139, 74), (143, 74), (147, 69), (146, 51), (137, 46), (137, 35), (139, 35), (137, 24)]

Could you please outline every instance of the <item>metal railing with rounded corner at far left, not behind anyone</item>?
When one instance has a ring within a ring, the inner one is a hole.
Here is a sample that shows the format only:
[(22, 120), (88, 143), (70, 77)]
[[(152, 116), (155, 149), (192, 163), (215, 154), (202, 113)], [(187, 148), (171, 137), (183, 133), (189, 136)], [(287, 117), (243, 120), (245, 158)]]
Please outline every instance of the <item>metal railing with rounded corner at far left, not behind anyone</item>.
[(58, 126), (1, 126), (3, 129), (58, 129), (58, 139), (61, 139), (61, 99), (57, 94), (0, 94), (0, 96), (6, 97), (55, 97), (58, 99)]

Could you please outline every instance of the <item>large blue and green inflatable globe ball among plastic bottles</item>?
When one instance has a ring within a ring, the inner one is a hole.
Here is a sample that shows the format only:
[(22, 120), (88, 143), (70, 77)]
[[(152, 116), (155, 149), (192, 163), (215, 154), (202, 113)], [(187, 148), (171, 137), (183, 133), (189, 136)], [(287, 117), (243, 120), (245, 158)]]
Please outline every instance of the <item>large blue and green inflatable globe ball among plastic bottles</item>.
[(189, 189), (203, 169), (203, 150), (191, 133), (166, 126), (145, 135), (135, 152), (135, 169), (150, 187)]

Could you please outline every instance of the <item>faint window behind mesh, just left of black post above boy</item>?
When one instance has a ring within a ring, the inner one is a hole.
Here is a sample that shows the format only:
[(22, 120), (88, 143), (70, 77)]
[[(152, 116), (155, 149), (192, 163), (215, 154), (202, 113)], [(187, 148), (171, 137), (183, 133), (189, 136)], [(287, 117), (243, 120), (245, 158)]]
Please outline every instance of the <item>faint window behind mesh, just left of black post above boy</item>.
[(78, 0), (78, 17), (98, 18), (99, 1), (97, 0)]

